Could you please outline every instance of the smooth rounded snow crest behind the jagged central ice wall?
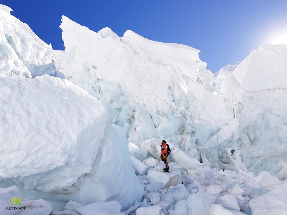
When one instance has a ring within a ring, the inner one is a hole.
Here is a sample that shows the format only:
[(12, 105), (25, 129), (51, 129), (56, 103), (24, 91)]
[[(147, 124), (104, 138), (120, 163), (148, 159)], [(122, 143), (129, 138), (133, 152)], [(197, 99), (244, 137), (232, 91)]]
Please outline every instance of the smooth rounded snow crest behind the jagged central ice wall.
[[(211, 87), (211, 72), (206, 70), (206, 63), (199, 59), (199, 50), (182, 44), (162, 43), (146, 39), (131, 30), (127, 30), (122, 38), (136, 53), (146, 55), (156, 64), (171, 67), (181, 74), (189, 84), (190, 79), (201, 77), (205, 88)], [(144, 58), (144, 56), (142, 56)]]

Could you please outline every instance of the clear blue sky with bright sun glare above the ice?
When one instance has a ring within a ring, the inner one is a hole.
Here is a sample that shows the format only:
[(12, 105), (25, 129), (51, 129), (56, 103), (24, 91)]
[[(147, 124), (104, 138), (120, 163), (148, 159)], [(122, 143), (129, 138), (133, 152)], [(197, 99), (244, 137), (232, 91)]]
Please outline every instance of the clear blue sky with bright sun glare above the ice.
[(110, 27), (119, 36), (130, 29), (148, 39), (201, 50), (216, 72), (244, 59), (259, 45), (287, 32), (287, 0), (276, 1), (16, 1), (1, 0), (46, 43), (64, 50), (61, 16), (91, 30)]

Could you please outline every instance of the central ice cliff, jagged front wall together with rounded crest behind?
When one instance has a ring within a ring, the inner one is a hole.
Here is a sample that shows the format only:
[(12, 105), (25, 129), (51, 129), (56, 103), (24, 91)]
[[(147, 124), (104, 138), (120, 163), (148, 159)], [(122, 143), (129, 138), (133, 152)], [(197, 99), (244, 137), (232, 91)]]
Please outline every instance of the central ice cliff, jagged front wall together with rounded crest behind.
[(150, 41), (132, 31), (122, 38), (108, 28), (96, 33), (65, 16), (60, 27), (65, 52), (59, 70), (115, 108), (114, 123), (127, 128), (129, 141), (183, 134), (192, 115), (188, 85), (212, 88), (213, 76), (192, 47)]

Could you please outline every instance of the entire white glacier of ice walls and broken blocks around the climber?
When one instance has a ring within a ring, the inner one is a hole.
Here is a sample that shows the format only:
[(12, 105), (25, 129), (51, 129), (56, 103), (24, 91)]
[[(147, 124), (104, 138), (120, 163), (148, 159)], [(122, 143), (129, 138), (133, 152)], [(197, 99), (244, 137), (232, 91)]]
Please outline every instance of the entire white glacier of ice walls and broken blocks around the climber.
[(193, 47), (66, 16), (53, 50), (10, 11), (0, 4), (1, 214), (12, 196), (29, 208), (14, 214), (286, 214), (287, 45), (211, 73)]

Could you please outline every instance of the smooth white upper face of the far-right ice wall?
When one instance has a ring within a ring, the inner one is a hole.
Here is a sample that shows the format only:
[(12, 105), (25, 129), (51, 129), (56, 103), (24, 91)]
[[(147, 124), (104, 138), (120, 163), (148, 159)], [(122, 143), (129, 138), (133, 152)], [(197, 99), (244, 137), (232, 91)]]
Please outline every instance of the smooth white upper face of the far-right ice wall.
[(246, 91), (287, 88), (286, 45), (263, 45), (252, 51), (233, 76)]

